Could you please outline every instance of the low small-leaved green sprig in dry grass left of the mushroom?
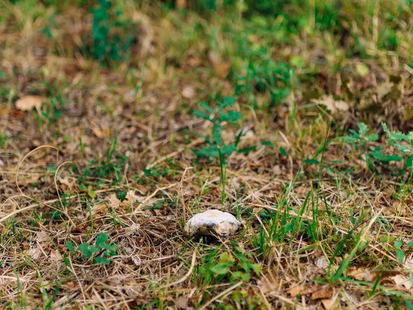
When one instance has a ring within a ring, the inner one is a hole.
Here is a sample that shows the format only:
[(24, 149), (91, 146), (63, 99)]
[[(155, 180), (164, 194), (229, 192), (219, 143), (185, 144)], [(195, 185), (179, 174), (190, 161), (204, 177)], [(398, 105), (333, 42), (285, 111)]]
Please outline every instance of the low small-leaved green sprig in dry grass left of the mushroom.
[[(96, 238), (96, 245), (90, 245), (89, 242), (84, 242), (78, 246), (77, 251), (80, 251), (86, 258), (92, 258), (93, 254), (96, 255), (93, 258), (93, 263), (102, 263), (103, 265), (108, 265), (110, 260), (103, 257), (112, 257), (116, 254), (116, 245), (111, 245), (107, 243), (108, 237), (105, 233), (100, 233)], [(75, 251), (74, 246), (71, 241), (66, 242), (66, 247), (69, 251)], [(102, 256), (100, 256), (102, 255)]]

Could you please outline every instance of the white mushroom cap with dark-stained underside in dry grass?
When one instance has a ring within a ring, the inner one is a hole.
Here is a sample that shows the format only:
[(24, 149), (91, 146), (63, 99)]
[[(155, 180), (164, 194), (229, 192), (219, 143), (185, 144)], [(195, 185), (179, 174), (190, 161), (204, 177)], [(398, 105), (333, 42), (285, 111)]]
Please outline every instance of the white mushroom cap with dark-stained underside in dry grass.
[(241, 223), (228, 212), (208, 210), (195, 214), (185, 226), (189, 235), (203, 234), (210, 236), (226, 237), (240, 228)]

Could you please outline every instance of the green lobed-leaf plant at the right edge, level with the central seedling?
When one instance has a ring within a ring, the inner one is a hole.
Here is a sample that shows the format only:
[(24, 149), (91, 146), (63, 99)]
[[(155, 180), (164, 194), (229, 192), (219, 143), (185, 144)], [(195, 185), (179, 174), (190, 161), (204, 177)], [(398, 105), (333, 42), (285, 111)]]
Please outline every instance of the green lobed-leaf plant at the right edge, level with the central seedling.
[[(350, 134), (342, 138), (346, 143), (352, 145), (354, 149), (361, 152), (362, 158), (367, 161), (368, 167), (379, 174), (377, 167), (384, 166), (388, 169), (395, 170), (395, 166), (391, 162), (403, 161), (403, 169), (398, 170), (399, 174), (404, 174), (413, 165), (413, 132), (403, 134), (402, 132), (390, 132), (385, 123), (381, 123), (381, 127), (387, 138), (386, 147), (378, 145), (370, 147), (371, 143), (379, 140), (379, 134), (368, 134), (369, 128), (364, 123), (359, 123), (359, 131), (350, 130)], [(403, 142), (408, 142), (410, 145)]]

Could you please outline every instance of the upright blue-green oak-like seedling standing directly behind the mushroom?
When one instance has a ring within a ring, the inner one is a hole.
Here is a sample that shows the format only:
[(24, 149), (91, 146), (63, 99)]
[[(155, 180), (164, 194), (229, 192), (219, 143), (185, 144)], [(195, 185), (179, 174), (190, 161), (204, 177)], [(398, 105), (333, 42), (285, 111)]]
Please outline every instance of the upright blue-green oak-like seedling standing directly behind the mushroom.
[[(226, 96), (223, 101), (218, 101), (218, 108), (214, 109), (208, 103), (202, 102), (200, 106), (203, 110), (195, 110), (193, 114), (199, 118), (204, 118), (207, 121), (213, 123), (213, 130), (211, 137), (204, 137), (205, 142), (209, 146), (203, 147), (198, 151), (193, 149), (193, 152), (198, 157), (206, 156), (217, 158), (218, 156), (229, 156), (231, 153), (237, 150), (237, 145), (240, 142), (241, 134), (237, 135), (234, 143), (224, 144), (222, 141), (222, 122), (233, 123), (239, 121), (242, 118), (242, 114), (239, 111), (229, 109), (236, 103), (236, 99), (231, 96)], [(220, 150), (218, 151), (218, 147)]]

